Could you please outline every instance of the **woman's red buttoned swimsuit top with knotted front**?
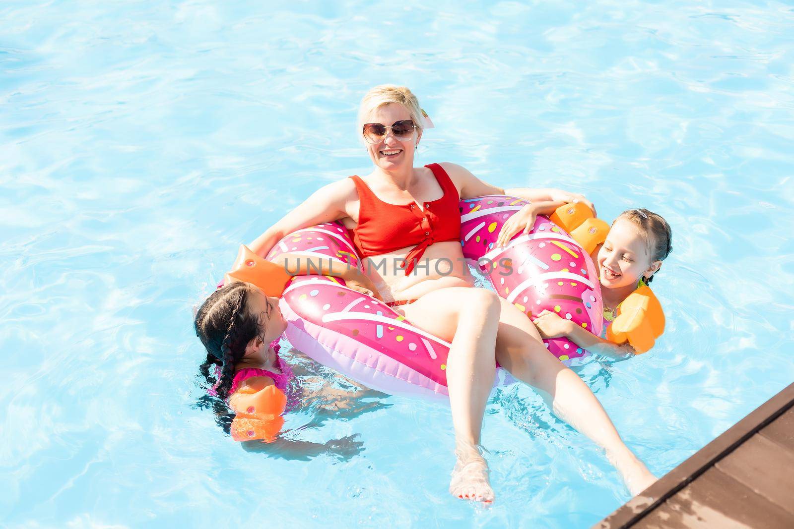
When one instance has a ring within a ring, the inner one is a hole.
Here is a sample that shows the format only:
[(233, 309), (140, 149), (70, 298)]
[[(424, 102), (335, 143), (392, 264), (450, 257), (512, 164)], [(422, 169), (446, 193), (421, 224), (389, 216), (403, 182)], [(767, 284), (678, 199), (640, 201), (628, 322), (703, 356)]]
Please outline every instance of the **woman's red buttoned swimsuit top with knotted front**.
[(444, 195), (425, 202), (424, 210), (416, 202), (405, 205), (384, 202), (361, 178), (350, 177), (356, 182), (360, 201), (353, 243), (362, 258), (414, 246), (401, 265), (408, 275), (430, 244), (461, 240), (461, 210), (455, 184), (437, 163), (425, 167), (433, 171)]

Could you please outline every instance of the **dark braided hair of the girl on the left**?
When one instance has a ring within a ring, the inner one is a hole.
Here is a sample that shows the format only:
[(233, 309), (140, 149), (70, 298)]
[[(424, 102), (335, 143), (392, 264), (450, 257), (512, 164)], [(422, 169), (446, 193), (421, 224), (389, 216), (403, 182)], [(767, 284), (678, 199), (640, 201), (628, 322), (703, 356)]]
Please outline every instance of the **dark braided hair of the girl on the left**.
[(249, 293), (248, 285), (234, 282), (215, 290), (196, 312), (195, 332), (206, 348), (206, 361), (198, 366), (198, 371), (208, 384), (214, 385), (210, 367), (221, 367), (215, 391), (223, 400), (229, 397), (234, 365), (245, 355), (245, 347), (257, 336), (264, 339), (259, 315), (248, 310)]

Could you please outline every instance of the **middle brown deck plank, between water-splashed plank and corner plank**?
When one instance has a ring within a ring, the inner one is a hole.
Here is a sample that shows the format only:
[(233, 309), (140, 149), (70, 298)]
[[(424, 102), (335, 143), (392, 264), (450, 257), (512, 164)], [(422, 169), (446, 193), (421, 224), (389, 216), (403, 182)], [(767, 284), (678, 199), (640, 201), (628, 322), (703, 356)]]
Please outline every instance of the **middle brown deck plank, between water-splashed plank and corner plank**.
[(794, 453), (757, 434), (715, 467), (794, 516)]

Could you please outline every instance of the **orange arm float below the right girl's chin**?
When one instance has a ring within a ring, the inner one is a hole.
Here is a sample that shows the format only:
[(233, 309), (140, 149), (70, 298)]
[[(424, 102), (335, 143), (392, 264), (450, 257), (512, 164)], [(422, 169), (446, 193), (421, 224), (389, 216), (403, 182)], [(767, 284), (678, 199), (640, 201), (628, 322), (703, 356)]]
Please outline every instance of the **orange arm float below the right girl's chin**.
[(630, 343), (638, 355), (649, 351), (665, 332), (665, 312), (649, 286), (634, 290), (618, 306), (618, 316), (607, 328), (607, 339)]

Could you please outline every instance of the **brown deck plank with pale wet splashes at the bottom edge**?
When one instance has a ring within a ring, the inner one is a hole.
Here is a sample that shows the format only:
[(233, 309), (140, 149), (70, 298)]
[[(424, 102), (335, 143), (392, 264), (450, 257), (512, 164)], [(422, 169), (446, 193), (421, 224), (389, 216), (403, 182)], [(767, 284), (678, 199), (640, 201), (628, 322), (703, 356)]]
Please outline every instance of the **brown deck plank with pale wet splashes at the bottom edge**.
[(634, 527), (794, 527), (794, 515), (711, 468)]

